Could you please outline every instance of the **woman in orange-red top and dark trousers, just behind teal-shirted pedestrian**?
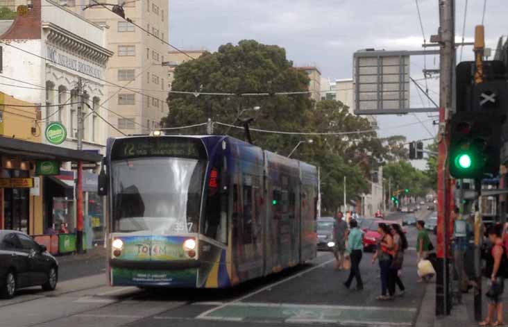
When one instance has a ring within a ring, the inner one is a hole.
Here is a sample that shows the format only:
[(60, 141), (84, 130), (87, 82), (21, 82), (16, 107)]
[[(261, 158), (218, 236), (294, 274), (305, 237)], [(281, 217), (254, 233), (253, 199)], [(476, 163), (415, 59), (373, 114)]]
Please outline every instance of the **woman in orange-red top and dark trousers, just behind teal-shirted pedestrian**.
[(390, 266), (393, 261), (393, 255), (395, 254), (393, 251), (393, 237), (391, 237), (389, 226), (384, 223), (378, 225), (378, 233), (380, 233), (381, 237), (380, 240), (378, 240), (377, 249), (372, 257), (372, 263), (377, 259), (380, 267), (381, 295), (376, 299), (391, 300), (395, 292), (395, 290), (390, 287), (390, 285), (393, 285), (390, 276)]

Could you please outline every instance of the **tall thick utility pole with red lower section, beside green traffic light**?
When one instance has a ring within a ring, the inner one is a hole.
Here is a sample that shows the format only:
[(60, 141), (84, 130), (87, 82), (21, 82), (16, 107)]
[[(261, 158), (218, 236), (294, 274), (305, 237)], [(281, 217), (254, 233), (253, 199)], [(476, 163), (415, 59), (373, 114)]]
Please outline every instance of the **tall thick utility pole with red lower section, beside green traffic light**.
[[(439, 155), (436, 315), (450, 315), (450, 178), (446, 163), (450, 144), (448, 121), (453, 107), (455, 74), (455, 0), (439, 0)], [(431, 39), (431, 40), (432, 40)], [(432, 40), (432, 41), (434, 41)]]

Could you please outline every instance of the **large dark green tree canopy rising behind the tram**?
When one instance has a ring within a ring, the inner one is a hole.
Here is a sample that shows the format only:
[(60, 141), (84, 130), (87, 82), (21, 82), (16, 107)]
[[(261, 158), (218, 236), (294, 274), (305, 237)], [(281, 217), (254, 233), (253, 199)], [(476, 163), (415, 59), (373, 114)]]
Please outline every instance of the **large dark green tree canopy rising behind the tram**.
[[(371, 170), (390, 160), (405, 156), (405, 137), (380, 139), (370, 122), (352, 115), (339, 101), (313, 103), (308, 94), (277, 94), (305, 92), (309, 78), (287, 60), (285, 50), (244, 40), (238, 45), (225, 44), (215, 53), (204, 53), (196, 60), (175, 69), (173, 91), (230, 93), (230, 96), (170, 93), (169, 115), (164, 127), (203, 123), (239, 124), (240, 119), (253, 118), (251, 128), (267, 131), (310, 133), (287, 135), (253, 131), (253, 143), (263, 149), (287, 156), (300, 141), (291, 158), (321, 167), (322, 203), (332, 212), (343, 203), (344, 176), (347, 176), (347, 197), (355, 199), (369, 192)], [(245, 95), (268, 93), (269, 95)], [(239, 94), (243, 94), (239, 96)], [(249, 110), (260, 106), (258, 111)], [(241, 114), (239, 117), (239, 114)], [(313, 135), (312, 133), (328, 135)], [(359, 133), (358, 133), (359, 132)], [(176, 130), (174, 133), (205, 133), (204, 127)], [(214, 124), (214, 133), (228, 133), (244, 138), (244, 131)]]

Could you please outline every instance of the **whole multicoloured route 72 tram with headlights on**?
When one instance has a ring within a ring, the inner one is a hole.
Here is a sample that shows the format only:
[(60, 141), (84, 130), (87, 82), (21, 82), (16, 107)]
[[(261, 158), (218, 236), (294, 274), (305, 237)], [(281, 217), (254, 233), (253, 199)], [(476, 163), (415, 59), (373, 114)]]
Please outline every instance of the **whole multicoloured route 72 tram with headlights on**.
[(112, 286), (224, 288), (316, 257), (316, 167), (233, 137), (110, 138)]

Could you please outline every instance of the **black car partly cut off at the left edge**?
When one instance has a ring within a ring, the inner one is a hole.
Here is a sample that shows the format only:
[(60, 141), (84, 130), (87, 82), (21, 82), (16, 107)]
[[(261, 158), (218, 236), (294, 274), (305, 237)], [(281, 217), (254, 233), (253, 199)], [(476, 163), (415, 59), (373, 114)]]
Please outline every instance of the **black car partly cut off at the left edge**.
[(32, 237), (17, 230), (0, 230), (0, 296), (10, 299), (23, 287), (41, 285), (52, 291), (58, 281), (58, 262)]

